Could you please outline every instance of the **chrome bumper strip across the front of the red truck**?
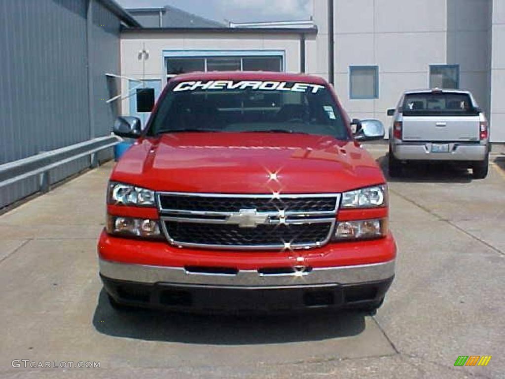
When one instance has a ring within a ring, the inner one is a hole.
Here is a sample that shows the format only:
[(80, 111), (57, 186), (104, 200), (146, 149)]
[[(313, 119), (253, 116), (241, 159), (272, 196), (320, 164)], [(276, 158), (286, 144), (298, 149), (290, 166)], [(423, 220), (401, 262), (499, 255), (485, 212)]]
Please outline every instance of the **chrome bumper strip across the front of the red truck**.
[(327, 283), (347, 285), (384, 280), (394, 275), (394, 260), (357, 266), (314, 268), (309, 272), (288, 274), (265, 274), (257, 270), (239, 270), (236, 274), (194, 273), (182, 267), (125, 264), (102, 259), (98, 263), (103, 277), (151, 285), (160, 282), (230, 287), (311, 286)]

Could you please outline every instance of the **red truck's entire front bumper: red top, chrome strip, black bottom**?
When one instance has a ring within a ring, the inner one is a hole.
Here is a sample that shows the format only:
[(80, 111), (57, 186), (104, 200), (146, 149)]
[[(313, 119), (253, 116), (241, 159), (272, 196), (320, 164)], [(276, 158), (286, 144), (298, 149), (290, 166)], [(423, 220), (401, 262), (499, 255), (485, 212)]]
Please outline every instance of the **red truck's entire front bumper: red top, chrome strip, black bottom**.
[(183, 311), (282, 311), (377, 304), (394, 276), (392, 236), (307, 251), (209, 251), (103, 233), (99, 270), (118, 303)]

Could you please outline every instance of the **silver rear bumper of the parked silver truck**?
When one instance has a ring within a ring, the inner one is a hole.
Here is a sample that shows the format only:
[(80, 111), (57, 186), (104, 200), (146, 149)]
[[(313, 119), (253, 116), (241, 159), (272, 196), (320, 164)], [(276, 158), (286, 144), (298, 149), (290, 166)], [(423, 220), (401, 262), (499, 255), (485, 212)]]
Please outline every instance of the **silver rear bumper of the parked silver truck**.
[(488, 154), (484, 144), (449, 143), (448, 153), (433, 153), (431, 142), (393, 144), (393, 155), (399, 160), (419, 161), (483, 161)]

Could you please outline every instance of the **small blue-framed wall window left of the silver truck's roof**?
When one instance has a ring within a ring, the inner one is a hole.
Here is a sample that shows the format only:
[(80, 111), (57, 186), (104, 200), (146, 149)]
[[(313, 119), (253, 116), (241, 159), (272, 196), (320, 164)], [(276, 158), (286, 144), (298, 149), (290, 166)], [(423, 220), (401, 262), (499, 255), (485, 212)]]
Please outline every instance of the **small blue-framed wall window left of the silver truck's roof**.
[(349, 97), (351, 99), (377, 99), (379, 80), (377, 66), (349, 67)]

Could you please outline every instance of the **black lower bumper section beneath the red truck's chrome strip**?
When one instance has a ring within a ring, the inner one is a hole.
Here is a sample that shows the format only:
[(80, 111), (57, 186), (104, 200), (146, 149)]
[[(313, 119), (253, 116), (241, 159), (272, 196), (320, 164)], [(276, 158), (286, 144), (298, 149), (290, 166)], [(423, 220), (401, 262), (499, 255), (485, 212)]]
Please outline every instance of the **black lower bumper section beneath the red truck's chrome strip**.
[(224, 287), (154, 285), (102, 276), (107, 293), (119, 304), (185, 312), (279, 312), (314, 308), (367, 308), (379, 305), (393, 277), (339, 285)]

